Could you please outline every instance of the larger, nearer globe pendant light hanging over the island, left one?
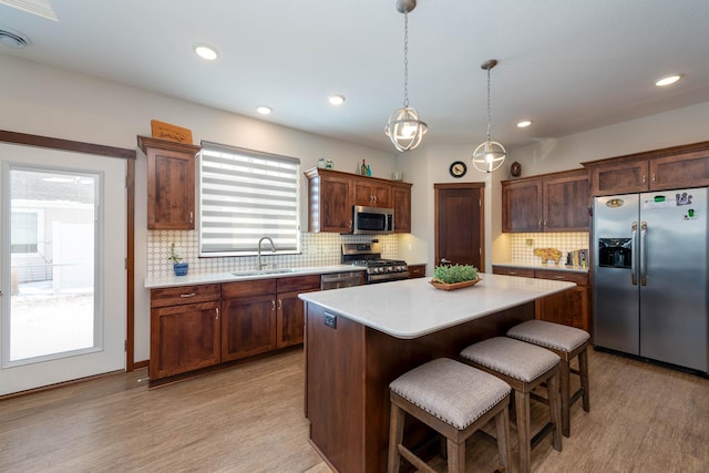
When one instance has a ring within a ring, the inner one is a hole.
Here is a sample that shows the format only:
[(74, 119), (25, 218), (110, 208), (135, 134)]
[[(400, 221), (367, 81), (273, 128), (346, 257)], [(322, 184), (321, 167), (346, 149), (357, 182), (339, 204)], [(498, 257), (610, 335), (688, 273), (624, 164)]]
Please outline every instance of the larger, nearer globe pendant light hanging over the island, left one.
[(419, 112), (409, 106), (409, 12), (415, 7), (417, 0), (397, 0), (397, 10), (403, 13), (403, 107), (391, 113), (384, 134), (401, 152), (419, 146), (429, 128), (419, 120)]

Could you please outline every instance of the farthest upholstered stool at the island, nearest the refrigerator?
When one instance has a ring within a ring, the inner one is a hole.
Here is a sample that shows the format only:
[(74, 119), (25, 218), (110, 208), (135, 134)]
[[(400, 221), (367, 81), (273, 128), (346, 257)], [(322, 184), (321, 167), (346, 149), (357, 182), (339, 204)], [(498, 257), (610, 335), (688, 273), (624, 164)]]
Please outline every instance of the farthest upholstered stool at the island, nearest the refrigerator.
[[(507, 331), (507, 337), (544, 347), (562, 359), (559, 380), (562, 391), (562, 433), (571, 434), (571, 408), (583, 398), (584, 411), (590, 411), (590, 393), (588, 391), (587, 349), (590, 336), (574, 327), (544, 320), (527, 320)], [(572, 369), (571, 362), (578, 357), (578, 370)], [(571, 393), (571, 374), (580, 378), (580, 388)]]

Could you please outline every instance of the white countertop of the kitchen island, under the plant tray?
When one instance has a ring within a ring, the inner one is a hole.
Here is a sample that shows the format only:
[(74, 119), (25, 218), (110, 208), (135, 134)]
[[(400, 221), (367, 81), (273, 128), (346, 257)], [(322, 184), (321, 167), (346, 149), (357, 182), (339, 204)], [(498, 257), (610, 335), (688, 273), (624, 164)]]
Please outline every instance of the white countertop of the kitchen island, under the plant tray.
[(574, 282), (480, 274), (475, 286), (435, 289), (430, 278), (306, 292), (298, 297), (397, 338), (411, 339), (576, 286)]

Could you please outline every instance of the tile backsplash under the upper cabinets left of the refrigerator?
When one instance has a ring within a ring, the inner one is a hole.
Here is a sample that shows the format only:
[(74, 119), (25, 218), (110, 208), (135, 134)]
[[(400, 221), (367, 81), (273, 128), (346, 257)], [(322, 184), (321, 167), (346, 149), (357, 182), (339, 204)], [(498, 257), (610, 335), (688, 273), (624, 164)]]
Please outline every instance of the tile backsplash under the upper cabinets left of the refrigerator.
[(510, 234), (512, 264), (536, 265), (542, 263), (534, 248), (556, 248), (562, 251), (559, 264), (566, 263), (566, 254), (588, 248), (588, 232)]

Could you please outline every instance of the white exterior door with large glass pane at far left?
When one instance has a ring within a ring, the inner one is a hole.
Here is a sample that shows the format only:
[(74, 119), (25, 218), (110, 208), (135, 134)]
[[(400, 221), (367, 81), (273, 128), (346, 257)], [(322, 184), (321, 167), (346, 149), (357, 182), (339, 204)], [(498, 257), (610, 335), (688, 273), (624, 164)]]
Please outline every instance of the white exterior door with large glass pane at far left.
[(0, 144), (0, 395), (125, 369), (125, 161)]

